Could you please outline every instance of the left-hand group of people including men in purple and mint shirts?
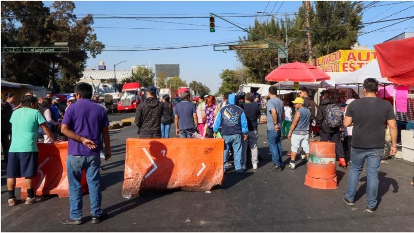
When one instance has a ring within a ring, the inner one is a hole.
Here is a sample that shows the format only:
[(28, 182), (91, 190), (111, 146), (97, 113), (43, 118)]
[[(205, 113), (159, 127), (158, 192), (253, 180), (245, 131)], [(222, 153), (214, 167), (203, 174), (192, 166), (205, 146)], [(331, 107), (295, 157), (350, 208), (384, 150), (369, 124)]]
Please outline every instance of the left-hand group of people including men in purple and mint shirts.
[[(41, 202), (35, 192), (34, 178), (39, 167), (39, 133), (43, 143), (57, 143), (57, 133), (68, 138), (67, 177), (69, 183), (69, 217), (62, 219), (66, 225), (82, 223), (82, 170), (86, 171), (91, 204), (92, 223), (108, 217), (101, 209), (100, 154), (105, 145), (105, 160), (111, 157), (108, 117), (104, 105), (95, 95), (92, 86), (79, 83), (66, 105), (51, 93), (36, 98), (25, 93), (18, 106), (15, 95), (6, 93), (1, 102), (1, 144), (7, 162), (8, 204), (19, 204), (15, 196), (16, 178), (24, 177), (27, 189), (26, 205)], [(76, 103), (76, 104), (75, 104)]]

